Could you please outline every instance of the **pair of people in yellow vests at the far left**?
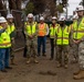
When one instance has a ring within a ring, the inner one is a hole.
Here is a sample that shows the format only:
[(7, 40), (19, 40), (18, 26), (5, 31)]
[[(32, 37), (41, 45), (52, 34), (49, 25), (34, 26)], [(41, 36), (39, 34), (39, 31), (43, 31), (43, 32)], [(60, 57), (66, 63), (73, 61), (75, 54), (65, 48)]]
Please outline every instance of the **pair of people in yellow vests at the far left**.
[(12, 69), (9, 65), (10, 57), (11, 63), (14, 65), (14, 36), (13, 15), (8, 14), (7, 20), (0, 16), (0, 71), (2, 72), (7, 72), (6, 69)]

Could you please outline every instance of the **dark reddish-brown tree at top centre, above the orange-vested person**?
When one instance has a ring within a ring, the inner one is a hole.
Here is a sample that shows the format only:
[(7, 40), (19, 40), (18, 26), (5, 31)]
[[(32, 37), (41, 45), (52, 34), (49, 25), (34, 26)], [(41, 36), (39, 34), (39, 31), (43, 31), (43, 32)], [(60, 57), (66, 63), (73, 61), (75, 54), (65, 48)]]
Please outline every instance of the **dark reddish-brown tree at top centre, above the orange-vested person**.
[(43, 13), (45, 9), (49, 9), (53, 15), (53, 13), (56, 11), (56, 0), (30, 0), (30, 2), (33, 2), (34, 14)]

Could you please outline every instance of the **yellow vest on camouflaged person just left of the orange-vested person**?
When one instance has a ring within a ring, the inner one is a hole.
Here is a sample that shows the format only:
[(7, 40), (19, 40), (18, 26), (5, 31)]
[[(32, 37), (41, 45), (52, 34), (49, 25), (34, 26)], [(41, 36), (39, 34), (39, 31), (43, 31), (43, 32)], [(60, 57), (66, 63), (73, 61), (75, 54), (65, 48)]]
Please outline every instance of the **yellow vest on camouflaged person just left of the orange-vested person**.
[(29, 35), (33, 35), (36, 31), (36, 22), (33, 22), (32, 25), (30, 23), (25, 23), (25, 32)]

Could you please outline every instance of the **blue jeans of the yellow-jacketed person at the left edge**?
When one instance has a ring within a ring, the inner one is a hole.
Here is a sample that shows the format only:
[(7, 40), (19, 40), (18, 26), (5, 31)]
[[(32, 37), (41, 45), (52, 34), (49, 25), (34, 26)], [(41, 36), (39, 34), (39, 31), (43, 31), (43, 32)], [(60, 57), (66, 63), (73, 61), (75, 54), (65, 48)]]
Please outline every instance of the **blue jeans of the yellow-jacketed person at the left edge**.
[(0, 48), (0, 70), (9, 67), (10, 48)]

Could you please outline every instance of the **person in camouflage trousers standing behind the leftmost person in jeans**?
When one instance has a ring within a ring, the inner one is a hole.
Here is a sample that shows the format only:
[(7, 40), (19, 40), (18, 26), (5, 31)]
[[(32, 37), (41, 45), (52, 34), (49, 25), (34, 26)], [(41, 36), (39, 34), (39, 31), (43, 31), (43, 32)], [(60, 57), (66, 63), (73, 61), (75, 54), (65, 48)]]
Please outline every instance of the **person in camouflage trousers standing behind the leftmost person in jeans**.
[(7, 14), (7, 21), (8, 21), (7, 32), (10, 34), (11, 44), (12, 44), (11, 49), (10, 49), (11, 65), (14, 65), (15, 26), (14, 26), (14, 23), (13, 23), (13, 15), (12, 14)]

